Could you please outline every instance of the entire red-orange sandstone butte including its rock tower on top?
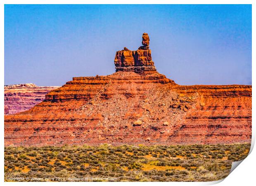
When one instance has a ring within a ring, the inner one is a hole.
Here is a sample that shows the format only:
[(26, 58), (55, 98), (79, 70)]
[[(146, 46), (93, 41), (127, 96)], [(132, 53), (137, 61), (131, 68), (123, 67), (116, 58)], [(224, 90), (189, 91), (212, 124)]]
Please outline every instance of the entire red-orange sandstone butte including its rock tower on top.
[(142, 45), (116, 52), (116, 73), (73, 78), (5, 115), (5, 146), (251, 142), (251, 85), (177, 85), (156, 71), (146, 33)]

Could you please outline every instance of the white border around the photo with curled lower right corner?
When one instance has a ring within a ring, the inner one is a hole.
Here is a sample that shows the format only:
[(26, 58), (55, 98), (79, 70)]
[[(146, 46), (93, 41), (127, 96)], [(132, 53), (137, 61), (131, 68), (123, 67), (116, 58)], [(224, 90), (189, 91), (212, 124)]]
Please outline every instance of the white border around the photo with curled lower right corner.
[[(254, 0), (140, 0), (139, 2), (136, 0), (129, 0), (126, 1), (120, 1), (120, 0), (2, 0), (0, 2), (0, 37), (1, 37), (1, 43), (0, 43), (0, 59), (1, 59), (1, 67), (0, 67), (0, 75), (2, 76), (0, 82), (1, 82), (1, 92), (0, 94), (4, 94), (4, 4), (252, 4), (252, 51), (255, 51), (256, 47), (256, 2)], [(255, 92), (255, 78), (256, 78), (256, 71), (255, 71), (255, 52), (252, 53), (252, 92), (254, 95)], [(255, 108), (255, 98), (252, 98), (252, 113), (256, 112)], [(54, 184), (54, 185), (69, 185), (69, 182), (4, 182), (4, 97), (1, 97), (1, 162), (0, 162), (0, 170), (1, 170), (1, 177), (0, 177), (0, 183), (3, 183), (4, 185), (45, 185), (45, 184)], [(252, 116), (252, 147), (255, 143), (255, 117)], [(251, 148), (252, 150), (252, 148)], [(250, 151), (251, 152), (251, 151)], [(220, 182), (218, 185), (253, 185), (255, 184), (255, 167), (256, 167), (256, 152), (255, 150), (250, 153), (250, 155), (241, 163), (238, 169), (234, 170), (224, 181), (213, 181), (213, 182), (147, 182), (147, 185), (155, 186), (155, 184), (162, 184), (162, 185), (209, 185), (209, 184), (216, 184)], [(76, 185), (99, 185), (102, 184), (100, 182), (75, 182)], [(138, 184), (142, 185), (143, 182), (104, 182), (106, 185), (131, 185), (131, 184)]]

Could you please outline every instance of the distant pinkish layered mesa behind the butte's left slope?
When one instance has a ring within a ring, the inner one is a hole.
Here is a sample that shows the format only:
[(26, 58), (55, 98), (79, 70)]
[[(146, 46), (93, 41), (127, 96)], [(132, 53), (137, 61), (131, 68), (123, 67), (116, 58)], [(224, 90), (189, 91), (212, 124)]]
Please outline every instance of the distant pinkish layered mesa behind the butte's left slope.
[(58, 87), (38, 87), (33, 83), (5, 85), (5, 114), (26, 111), (45, 99), (45, 94)]

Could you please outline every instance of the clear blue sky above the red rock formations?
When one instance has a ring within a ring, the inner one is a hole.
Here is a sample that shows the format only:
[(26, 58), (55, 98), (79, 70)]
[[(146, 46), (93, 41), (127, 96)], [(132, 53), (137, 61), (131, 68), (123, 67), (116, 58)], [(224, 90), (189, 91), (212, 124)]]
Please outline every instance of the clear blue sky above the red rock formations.
[(112, 74), (144, 32), (180, 85), (251, 85), (251, 5), (5, 5), (5, 85)]

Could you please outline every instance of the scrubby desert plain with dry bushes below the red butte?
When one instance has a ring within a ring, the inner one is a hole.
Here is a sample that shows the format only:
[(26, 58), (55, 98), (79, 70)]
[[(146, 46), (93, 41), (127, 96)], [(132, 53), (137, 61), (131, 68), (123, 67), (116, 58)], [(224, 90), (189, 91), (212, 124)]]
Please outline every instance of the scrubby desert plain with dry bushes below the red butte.
[(6, 177), (116, 177), (118, 181), (215, 181), (250, 144), (6, 147)]

